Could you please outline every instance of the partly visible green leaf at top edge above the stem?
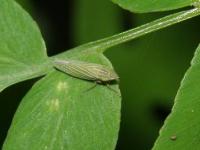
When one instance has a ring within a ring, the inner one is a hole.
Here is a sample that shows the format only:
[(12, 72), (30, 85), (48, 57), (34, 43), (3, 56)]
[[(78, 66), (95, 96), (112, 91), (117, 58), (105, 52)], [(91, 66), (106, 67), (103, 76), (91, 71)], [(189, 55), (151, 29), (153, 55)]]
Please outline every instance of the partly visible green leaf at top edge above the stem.
[(138, 13), (167, 11), (193, 5), (198, 0), (112, 0), (119, 6)]

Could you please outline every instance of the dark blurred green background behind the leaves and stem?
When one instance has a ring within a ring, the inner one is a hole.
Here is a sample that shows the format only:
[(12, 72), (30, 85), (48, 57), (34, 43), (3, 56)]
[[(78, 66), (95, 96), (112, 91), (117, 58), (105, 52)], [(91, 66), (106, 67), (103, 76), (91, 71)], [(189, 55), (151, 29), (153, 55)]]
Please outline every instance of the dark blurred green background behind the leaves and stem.
[[(109, 0), (18, 1), (38, 23), (49, 56), (172, 13), (133, 14)], [(200, 17), (193, 18), (106, 52), (121, 78), (117, 150), (153, 146), (199, 43), (199, 26)], [(37, 80), (16, 84), (0, 94), (1, 143), (18, 104)]]

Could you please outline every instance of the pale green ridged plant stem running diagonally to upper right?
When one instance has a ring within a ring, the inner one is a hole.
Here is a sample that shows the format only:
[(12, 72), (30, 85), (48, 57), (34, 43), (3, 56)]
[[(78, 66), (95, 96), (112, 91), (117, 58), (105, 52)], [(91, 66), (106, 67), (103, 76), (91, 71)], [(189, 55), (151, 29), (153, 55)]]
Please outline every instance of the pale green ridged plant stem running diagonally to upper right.
[(200, 8), (193, 8), (190, 10), (178, 12), (172, 15), (168, 15), (166, 17), (157, 19), (150, 23), (144, 24), (137, 28), (122, 32), (120, 34), (107, 37), (105, 39), (101, 39), (95, 42), (90, 42), (85, 46), (92, 47), (97, 49), (98, 51), (105, 51), (106, 49), (116, 46), (118, 44), (130, 41), (137, 37), (141, 37), (145, 34), (157, 31), (159, 29), (168, 27), (170, 25), (182, 22), (184, 20), (190, 19), (192, 17), (200, 15)]

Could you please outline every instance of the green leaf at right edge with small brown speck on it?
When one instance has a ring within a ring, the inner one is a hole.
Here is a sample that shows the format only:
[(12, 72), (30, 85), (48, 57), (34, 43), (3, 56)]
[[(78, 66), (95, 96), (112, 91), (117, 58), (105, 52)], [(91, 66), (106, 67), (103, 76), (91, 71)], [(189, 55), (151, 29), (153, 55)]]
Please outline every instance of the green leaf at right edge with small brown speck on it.
[(171, 114), (160, 131), (154, 150), (192, 149), (200, 147), (200, 45), (175, 98)]

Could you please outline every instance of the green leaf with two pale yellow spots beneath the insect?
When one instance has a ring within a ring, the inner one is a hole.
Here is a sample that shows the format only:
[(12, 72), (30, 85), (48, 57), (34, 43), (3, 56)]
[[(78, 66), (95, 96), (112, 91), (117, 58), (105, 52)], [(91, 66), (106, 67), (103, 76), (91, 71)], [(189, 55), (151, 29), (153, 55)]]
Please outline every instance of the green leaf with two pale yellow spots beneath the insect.
[[(111, 67), (102, 54), (92, 51), (73, 59)], [(110, 88), (119, 89), (97, 85), (88, 90), (94, 85), (59, 71), (49, 73), (22, 100), (4, 150), (114, 149), (121, 98)]]

